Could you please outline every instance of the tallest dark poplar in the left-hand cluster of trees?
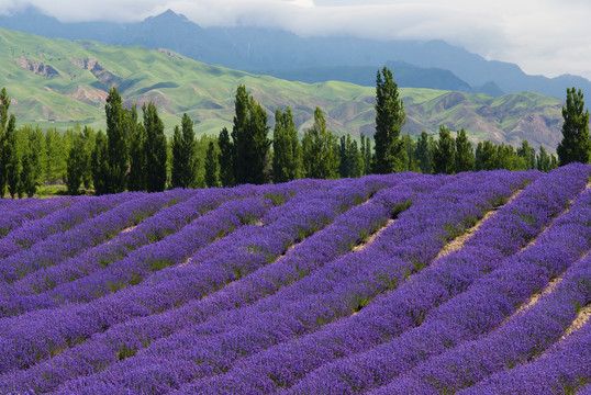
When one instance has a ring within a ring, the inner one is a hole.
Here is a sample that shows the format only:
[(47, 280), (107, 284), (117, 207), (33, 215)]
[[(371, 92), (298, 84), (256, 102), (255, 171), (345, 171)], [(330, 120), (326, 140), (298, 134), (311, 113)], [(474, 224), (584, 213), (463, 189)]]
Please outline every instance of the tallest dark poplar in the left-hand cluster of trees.
[(125, 109), (122, 106), (121, 95), (112, 87), (107, 97), (104, 113), (107, 115), (107, 158), (109, 161), (109, 179), (107, 189), (109, 193), (125, 191), (127, 167), (130, 162), (130, 147)]

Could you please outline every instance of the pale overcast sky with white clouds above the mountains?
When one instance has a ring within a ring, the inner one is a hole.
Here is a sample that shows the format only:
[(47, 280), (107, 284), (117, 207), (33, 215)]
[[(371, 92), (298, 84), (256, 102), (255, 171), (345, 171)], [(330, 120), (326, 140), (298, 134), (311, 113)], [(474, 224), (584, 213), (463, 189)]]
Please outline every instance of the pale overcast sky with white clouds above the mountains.
[(30, 4), (64, 22), (140, 21), (171, 9), (202, 26), (441, 38), (527, 74), (591, 79), (590, 0), (0, 0), (0, 12)]

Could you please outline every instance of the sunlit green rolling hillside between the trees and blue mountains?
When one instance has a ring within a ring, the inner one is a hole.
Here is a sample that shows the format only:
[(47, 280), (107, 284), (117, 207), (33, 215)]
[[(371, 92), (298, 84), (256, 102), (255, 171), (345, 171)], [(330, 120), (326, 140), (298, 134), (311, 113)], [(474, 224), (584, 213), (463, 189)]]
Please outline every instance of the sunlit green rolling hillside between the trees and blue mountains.
[[(395, 79), (395, 76), (394, 76)], [(126, 105), (154, 101), (167, 131), (187, 112), (198, 134), (230, 126), (234, 94), (244, 83), (267, 110), (289, 105), (305, 129), (320, 106), (336, 132), (373, 133), (375, 89), (346, 82), (302, 83), (256, 76), (183, 58), (169, 50), (49, 40), (0, 29), (0, 87), (12, 98), (20, 124), (64, 129), (79, 122), (104, 128), (104, 99), (115, 84)], [(560, 138), (561, 101), (538, 93), (500, 98), (428, 89), (401, 89), (404, 131), (436, 133), (464, 127), (472, 140), (518, 144), (527, 138), (554, 150)]]

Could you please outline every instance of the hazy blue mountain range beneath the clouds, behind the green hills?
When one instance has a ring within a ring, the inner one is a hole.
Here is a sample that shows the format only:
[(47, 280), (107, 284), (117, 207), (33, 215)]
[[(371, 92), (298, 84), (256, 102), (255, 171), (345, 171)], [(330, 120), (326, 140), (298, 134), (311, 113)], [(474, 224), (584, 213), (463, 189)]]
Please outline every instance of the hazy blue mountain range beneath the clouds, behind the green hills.
[[(300, 37), (280, 30), (259, 27), (202, 29), (183, 15), (167, 11), (137, 23), (60, 23), (27, 9), (12, 16), (0, 15), (0, 26), (47, 37), (93, 40), (113, 45), (165, 47), (208, 64), (265, 72), (271, 76), (324, 82), (342, 80), (373, 86), (359, 77), (355, 68), (378, 68), (389, 61), (412, 65), (397, 76), (401, 87), (454, 89), (502, 95), (535, 91), (562, 99), (566, 88), (576, 86), (591, 91), (591, 81), (577, 76), (547, 78), (528, 76), (518, 66), (486, 60), (443, 41), (376, 41), (355, 37)], [(457, 79), (458, 89), (442, 83), (442, 70)], [(364, 71), (365, 72), (365, 71)], [(466, 88), (468, 86), (469, 88)]]

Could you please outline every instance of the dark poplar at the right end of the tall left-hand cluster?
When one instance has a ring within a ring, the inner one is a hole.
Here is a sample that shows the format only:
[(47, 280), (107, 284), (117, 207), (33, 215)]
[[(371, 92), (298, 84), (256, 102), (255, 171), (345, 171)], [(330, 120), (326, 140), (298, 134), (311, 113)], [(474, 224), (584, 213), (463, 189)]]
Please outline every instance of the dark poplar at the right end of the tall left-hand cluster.
[(153, 102), (142, 106), (146, 129), (146, 190), (161, 192), (166, 188), (167, 142), (164, 124)]

